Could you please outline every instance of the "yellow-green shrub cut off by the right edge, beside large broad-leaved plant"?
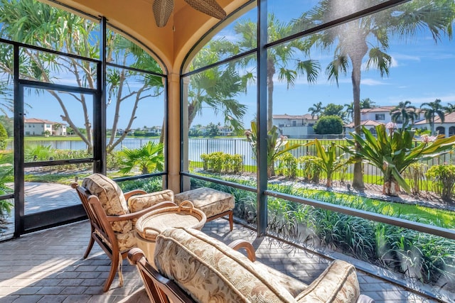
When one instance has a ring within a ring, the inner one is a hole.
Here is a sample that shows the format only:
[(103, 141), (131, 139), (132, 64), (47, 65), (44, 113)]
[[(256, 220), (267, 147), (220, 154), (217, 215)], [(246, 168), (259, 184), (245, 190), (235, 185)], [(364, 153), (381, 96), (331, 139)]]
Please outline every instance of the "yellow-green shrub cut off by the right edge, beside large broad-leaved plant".
[(455, 188), (455, 165), (433, 165), (427, 171), (427, 177), (433, 181), (433, 191), (445, 202), (451, 202)]

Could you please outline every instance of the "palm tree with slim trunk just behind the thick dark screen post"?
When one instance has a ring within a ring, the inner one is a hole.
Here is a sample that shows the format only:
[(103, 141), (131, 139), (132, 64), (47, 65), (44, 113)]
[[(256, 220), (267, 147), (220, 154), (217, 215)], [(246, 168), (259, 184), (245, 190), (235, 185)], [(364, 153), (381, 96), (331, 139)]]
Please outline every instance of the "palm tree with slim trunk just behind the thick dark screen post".
[[(257, 23), (250, 19), (240, 21), (234, 27), (237, 34), (241, 36), (237, 44), (243, 50), (256, 48), (257, 41), (252, 38), (252, 33), (256, 33)], [(293, 23), (282, 23), (277, 20), (274, 14), (269, 14), (267, 35), (272, 40), (279, 40), (291, 35)], [(255, 35), (253, 35), (255, 36)], [(238, 47), (237, 47), (238, 49)], [(306, 55), (309, 51), (306, 41), (301, 39), (291, 40), (288, 43), (276, 45), (269, 48), (267, 52), (267, 130), (273, 126), (273, 91), (274, 75), (278, 74), (278, 80), (286, 82), (287, 87), (294, 87), (297, 77), (306, 75), (309, 83), (316, 82), (319, 74), (320, 65), (315, 60), (301, 60), (301, 55)]]

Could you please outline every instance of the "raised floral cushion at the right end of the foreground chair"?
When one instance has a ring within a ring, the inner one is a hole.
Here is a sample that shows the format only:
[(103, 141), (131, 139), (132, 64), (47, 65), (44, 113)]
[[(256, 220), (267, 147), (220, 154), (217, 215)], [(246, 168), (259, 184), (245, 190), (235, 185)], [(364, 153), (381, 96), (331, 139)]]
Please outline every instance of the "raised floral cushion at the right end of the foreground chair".
[(334, 260), (306, 290), (297, 295), (296, 300), (299, 303), (355, 303), (359, 296), (360, 287), (354, 265), (342, 260)]

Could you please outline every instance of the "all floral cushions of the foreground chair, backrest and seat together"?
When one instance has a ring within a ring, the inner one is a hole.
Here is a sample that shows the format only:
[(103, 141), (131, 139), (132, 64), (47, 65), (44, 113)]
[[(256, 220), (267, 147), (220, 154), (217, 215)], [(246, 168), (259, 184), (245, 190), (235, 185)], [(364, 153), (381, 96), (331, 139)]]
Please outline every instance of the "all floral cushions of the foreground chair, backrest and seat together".
[[(197, 302), (358, 302), (355, 268), (335, 260), (305, 285), (191, 228), (167, 228), (156, 238), (156, 268)], [(360, 296), (360, 297), (359, 297)], [(364, 296), (363, 302), (374, 302)]]

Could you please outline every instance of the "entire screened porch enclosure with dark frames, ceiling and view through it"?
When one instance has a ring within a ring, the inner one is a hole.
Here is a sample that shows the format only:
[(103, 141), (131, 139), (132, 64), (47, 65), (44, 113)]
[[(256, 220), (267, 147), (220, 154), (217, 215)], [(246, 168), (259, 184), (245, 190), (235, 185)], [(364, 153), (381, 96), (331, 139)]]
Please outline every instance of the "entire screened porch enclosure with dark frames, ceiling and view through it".
[(454, 1), (219, 0), (218, 20), (175, 0), (160, 27), (152, 2), (1, 2), (2, 241), (82, 224), (70, 182), (100, 172), (228, 192), (240, 238), (453, 300)]

